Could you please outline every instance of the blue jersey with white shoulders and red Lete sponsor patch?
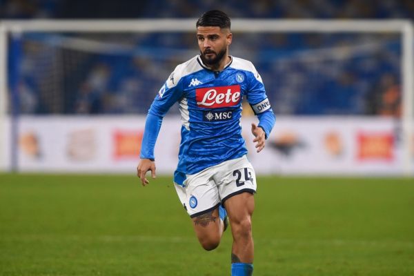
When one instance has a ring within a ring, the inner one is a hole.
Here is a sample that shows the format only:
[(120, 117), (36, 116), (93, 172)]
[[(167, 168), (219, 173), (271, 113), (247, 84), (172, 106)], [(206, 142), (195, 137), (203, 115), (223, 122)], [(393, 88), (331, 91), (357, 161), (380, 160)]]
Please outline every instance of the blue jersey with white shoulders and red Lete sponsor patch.
[(262, 79), (250, 61), (232, 57), (220, 72), (208, 69), (199, 56), (181, 63), (148, 111), (141, 158), (154, 158), (161, 119), (174, 103), (179, 104), (182, 122), (175, 183), (182, 184), (186, 175), (246, 155), (240, 126), (243, 97), (258, 115), (259, 126), (267, 137), (275, 115)]

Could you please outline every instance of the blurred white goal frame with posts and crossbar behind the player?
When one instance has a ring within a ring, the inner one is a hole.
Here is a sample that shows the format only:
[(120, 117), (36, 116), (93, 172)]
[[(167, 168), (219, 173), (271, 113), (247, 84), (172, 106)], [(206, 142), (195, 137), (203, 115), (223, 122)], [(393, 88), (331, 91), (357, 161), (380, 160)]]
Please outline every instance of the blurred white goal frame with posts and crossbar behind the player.
[[(26, 32), (194, 32), (197, 19), (137, 19), (137, 20), (3, 20), (0, 21), (0, 146), (6, 144), (8, 120), (8, 55), (9, 39), (13, 34)], [(232, 31), (242, 33), (312, 32), (312, 33), (386, 33), (402, 37), (402, 145), (404, 174), (413, 172), (413, 117), (414, 117), (414, 35), (409, 20), (278, 20), (233, 19)], [(16, 141), (12, 141), (16, 143)], [(4, 150), (4, 149), (3, 149)], [(7, 157), (1, 155), (1, 164)]]

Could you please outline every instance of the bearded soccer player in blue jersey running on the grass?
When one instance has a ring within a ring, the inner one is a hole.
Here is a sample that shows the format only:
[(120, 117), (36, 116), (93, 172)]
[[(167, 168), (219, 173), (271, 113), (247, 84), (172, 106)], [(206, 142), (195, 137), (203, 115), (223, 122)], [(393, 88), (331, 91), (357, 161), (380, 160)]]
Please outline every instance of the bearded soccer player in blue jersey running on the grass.
[(206, 250), (219, 245), (230, 221), (231, 273), (252, 275), (256, 178), (242, 138), (242, 98), (259, 118), (258, 126), (251, 125), (257, 152), (265, 146), (275, 115), (253, 64), (228, 53), (233, 34), (227, 14), (210, 10), (196, 27), (200, 55), (179, 64), (152, 102), (137, 175), (144, 186), (149, 183), (146, 172), (155, 177), (155, 141), (162, 118), (177, 102), (182, 126), (174, 186), (181, 204)]

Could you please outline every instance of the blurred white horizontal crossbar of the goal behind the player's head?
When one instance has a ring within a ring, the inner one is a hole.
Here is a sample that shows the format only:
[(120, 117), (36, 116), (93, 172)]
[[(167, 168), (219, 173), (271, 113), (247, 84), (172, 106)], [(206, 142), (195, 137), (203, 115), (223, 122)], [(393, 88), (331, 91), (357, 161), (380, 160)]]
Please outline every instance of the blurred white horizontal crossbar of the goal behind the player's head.
[[(3, 20), (14, 32), (190, 32), (197, 19)], [(234, 32), (400, 32), (408, 20), (233, 19)]]

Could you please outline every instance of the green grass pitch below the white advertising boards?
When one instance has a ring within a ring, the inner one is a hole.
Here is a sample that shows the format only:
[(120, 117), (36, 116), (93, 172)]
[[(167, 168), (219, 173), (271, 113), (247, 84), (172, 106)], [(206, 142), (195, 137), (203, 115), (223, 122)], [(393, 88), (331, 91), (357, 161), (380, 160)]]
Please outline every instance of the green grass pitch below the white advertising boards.
[[(256, 276), (414, 275), (414, 180), (259, 177)], [(170, 177), (0, 175), (0, 275), (230, 275)]]

